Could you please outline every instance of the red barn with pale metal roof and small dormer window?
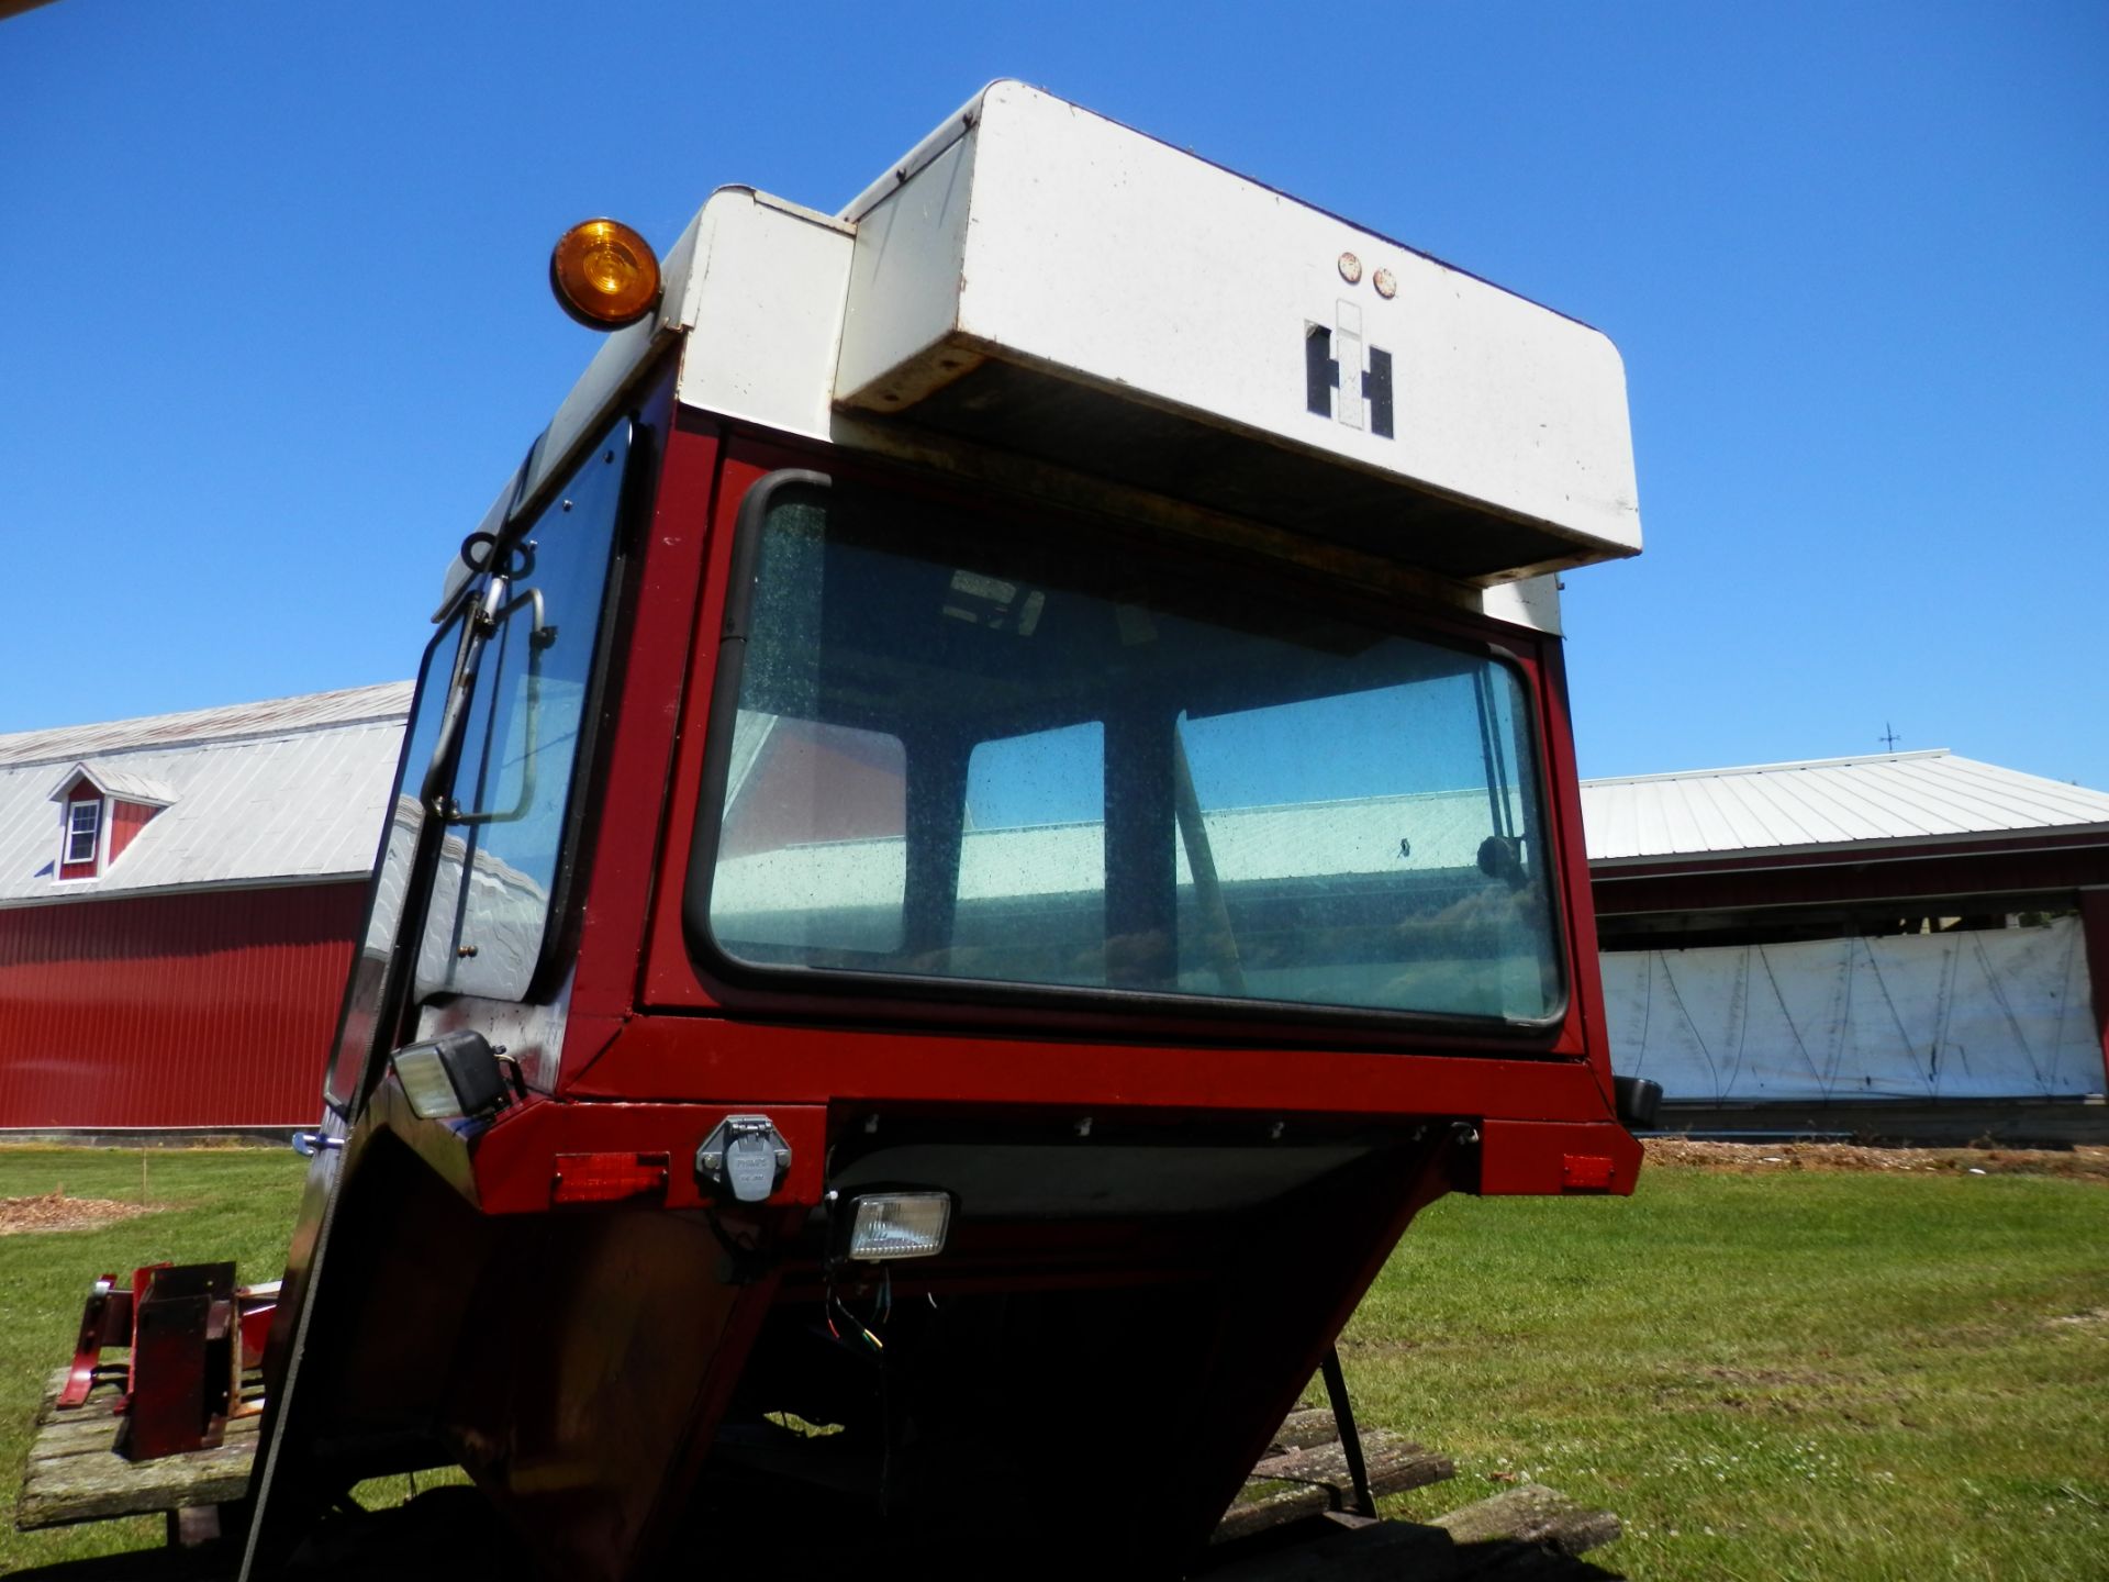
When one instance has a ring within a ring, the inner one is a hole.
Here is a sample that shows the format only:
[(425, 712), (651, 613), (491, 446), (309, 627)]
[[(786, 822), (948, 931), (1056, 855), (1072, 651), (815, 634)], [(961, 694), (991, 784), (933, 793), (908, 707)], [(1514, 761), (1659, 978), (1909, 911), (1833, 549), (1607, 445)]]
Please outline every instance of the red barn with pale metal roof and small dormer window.
[(0, 1128), (314, 1122), (407, 707), (0, 736)]

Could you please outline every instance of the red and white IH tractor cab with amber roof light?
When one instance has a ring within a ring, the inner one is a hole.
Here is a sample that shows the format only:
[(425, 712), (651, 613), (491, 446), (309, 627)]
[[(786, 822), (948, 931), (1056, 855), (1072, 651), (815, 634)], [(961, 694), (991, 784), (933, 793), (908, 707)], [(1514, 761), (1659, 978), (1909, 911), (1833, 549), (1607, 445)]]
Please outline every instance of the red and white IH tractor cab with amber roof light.
[(437, 1464), (555, 1576), (1177, 1574), (1424, 1204), (1632, 1188), (1618, 354), (1010, 82), (645, 287), (449, 570), (249, 1574)]

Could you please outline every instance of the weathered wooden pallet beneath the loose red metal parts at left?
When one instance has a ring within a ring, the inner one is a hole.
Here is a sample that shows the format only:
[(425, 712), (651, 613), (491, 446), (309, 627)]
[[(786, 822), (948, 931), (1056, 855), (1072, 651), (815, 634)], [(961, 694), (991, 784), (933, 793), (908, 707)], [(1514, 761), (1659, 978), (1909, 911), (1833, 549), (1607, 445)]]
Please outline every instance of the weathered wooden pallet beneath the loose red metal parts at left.
[[(70, 1411), (57, 1405), (63, 1384), (61, 1367), (44, 1386), (44, 1405), (36, 1415), (36, 1439), (30, 1441), (21, 1498), (15, 1502), (15, 1525), (23, 1531), (156, 1510), (196, 1510), (247, 1493), (262, 1417), (230, 1417), (226, 1443), (215, 1449), (127, 1462), (112, 1449), (120, 1426), (114, 1407), (124, 1390), (124, 1365), (97, 1369), (89, 1398)], [(259, 1390), (259, 1382), (251, 1380), (243, 1390), (245, 1401), (253, 1405)]]

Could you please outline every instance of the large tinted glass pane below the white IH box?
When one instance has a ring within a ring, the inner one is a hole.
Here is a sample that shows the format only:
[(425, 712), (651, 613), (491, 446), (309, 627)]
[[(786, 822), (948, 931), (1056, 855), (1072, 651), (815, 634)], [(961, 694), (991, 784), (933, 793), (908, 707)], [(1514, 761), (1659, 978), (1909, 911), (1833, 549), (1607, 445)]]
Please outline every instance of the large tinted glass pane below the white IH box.
[(1200, 582), (1114, 538), (810, 483), (768, 498), (753, 565), (707, 949), (761, 970), (1556, 1012), (1512, 662)]

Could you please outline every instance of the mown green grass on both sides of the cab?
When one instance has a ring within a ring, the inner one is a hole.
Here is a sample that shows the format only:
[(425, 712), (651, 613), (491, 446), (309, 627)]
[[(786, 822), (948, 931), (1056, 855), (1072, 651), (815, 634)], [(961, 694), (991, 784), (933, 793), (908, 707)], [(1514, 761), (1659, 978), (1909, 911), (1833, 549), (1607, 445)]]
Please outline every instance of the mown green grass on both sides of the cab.
[[(0, 1496), (86, 1280), (278, 1272), (302, 1162), (156, 1152), (158, 1213), (0, 1236)], [(139, 1200), (137, 1152), (0, 1150), (0, 1198)], [(2109, 1576), (2109, 1188), (1653, 1169), (1632, 1200), (1430, 1209), (1343, 1342), (1367, 1424), (1457, 1460), (1432, 1512), (1535, 1479), (1618, 1510), (1649, 1578)], [(0, 1574), (158, 1542), (15, 1533)]]

